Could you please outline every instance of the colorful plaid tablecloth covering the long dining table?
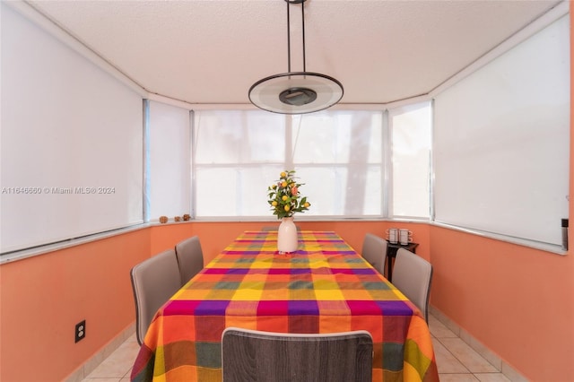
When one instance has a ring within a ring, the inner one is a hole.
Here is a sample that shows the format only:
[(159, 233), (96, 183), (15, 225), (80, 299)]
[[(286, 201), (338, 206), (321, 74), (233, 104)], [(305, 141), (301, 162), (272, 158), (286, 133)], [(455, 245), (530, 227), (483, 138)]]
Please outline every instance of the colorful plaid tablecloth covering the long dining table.
[(156, 314), (133, 381), (221, 381), (227, 326), (271, 332), (367, 330), (373, 381), (438, 381), (420, 311), (335, 232), (300, 231), (295, 253), (277, 232), (246, 231)]

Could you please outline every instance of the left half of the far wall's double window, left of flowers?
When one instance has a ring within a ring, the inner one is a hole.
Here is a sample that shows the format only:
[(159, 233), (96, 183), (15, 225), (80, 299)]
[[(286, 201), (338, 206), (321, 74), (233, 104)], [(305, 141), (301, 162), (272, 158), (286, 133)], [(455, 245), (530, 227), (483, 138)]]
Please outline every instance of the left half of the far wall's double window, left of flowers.
[(268, 215), (266, 187), (285, 167), (285, 117), (259, 110), (194, 114), (196, 217)]

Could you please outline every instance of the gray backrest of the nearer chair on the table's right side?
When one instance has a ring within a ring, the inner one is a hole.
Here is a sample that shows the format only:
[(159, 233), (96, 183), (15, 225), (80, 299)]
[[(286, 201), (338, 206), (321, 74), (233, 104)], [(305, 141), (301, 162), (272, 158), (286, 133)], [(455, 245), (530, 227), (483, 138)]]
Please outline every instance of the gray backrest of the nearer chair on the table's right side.
[(429, 295), (431, 294), (432, 265), (421, 256), (404, 248), (396, 251), (393, 267), (393, 284), (421, 309), (422, 316), (429, 321)]

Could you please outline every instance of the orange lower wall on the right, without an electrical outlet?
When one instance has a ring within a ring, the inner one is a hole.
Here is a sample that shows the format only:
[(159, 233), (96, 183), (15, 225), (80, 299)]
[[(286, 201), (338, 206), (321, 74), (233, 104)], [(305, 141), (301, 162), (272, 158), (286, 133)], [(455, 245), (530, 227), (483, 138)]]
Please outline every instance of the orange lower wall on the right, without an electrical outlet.
[(574, 379), (572, 256), (431, 227), (431, 304), (533, 381)]

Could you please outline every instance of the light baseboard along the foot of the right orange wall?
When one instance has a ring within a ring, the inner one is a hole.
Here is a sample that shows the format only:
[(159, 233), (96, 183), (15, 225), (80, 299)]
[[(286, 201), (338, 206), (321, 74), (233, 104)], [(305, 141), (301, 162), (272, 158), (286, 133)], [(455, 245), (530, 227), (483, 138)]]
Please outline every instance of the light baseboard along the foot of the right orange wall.
[(485, 360), (488, 360), (491, 365), (498, 369), (500, 373), (504, 374), (506, 378), (509, 378), (512, 382), (528, 382), (528, 378), (525, 378), (516, 369), (513, 369), (508, 363), (502, 360), (498, 354), (492, 352), (486, 345), (478, 341), (470, 333), (466, 332), (465, 329), (458, 326), (457, 323), (448, 318), (438, 308), (430, 306), (429, 311), (432, 316), (436, 317), (454, 334), (457, 334), (457, 336), (470, 346), (474, 352), (479, 353)]

